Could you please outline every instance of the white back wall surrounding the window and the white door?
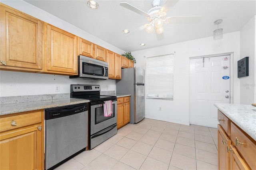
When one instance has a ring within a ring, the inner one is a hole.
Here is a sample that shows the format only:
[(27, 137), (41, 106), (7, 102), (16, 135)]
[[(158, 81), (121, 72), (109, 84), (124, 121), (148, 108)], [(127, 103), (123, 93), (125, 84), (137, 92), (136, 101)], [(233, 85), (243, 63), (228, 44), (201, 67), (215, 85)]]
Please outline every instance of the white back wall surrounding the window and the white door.
[[(162, 47), (133, 51), (132, 54), (137, 61), (135, 66), (142, 67), (145, 70), (146, 57), (174, 53), (174, 100), (146, 99), (145, 116), (147, 118), (189, 125), (189, 57), (227, 52), (234, 52), (232, 63), (234, 67), (233, 101), (234, 103), (240, 103), (240, 83), (236, 71), (236, 61), (240, 58), (240, 32), (224, 34), (223, 39), (219, 41), (214, 41), (212, 37), (208, 37)], [(158, 111), (158, 107), (162, 107), (162, 111)]]

